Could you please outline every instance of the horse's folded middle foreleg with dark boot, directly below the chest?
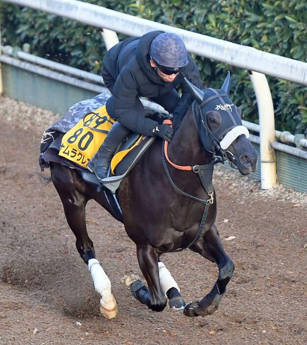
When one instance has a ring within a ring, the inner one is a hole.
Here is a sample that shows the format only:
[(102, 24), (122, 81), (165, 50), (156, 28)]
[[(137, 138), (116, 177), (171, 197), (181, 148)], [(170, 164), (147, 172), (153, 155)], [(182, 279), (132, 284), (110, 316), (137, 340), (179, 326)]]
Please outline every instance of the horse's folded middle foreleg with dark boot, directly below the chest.
[(148, 308), (155, 312), (161, 312), (166, 307), (167, 300), (160, 284), (158, 257), (155, 249), (149, 245), (137, 246), (137, 256), (149, 291), (140, 281), (136, 281), (131, 284), (131, 292)]

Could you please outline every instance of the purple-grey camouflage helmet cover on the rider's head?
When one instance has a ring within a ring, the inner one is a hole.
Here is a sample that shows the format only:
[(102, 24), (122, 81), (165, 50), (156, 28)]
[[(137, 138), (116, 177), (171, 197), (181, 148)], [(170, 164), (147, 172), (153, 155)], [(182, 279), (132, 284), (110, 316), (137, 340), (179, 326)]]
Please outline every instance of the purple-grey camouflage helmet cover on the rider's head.
[(149, 48), (150, 57), (159, 65), (176, 68), (186, 66), (187, 48), (180, 36), (164, 32), (156, 36)]

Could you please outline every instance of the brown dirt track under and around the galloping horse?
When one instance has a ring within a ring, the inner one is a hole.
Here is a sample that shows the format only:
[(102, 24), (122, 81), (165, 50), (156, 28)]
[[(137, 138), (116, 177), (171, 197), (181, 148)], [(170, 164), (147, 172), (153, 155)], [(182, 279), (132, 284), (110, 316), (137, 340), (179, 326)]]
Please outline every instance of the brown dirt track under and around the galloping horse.
[[(13, 125), (12, 114), (27, 125)], [(89, 202), (89, 235), (118, 302), (115, 319), (100, 316), (56, 190), (38, 176), (40, 137), (53, 120), (0, 98), (1, 345), (307, 344), (306, 203), (291, 193), (286, 201), (280, 192), (269, 196), (228, 171), (215, 177), (216, 224), (223, 239), (236, 237), (223, 241), (236, 270), (217, 313), (195, 319), (168, 309), (152, 313), (134, 300), (119, 280), (140, 274), (135, 245), (120, 223)], [(192, 252), (163, 261), (186, 301), (204, 296), (217, 277), (217, 267)]]

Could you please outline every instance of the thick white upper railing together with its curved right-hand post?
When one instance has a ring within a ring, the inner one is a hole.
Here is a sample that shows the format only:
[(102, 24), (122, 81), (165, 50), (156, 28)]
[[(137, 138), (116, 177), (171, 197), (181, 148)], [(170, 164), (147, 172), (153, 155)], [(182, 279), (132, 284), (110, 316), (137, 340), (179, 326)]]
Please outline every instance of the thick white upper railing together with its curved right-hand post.
[[(2, 1), (28, 6), (57, 14), (61, 17), (77, 20), (84, 24), (113, 30), (126, 35), (140, 36), (151, 30), (175, 32), (183, 38), (190, 53), (248, 69), (251, 71), (250, 76), (256, 93), (259, 122), (261, 125), (261, 187), (263, 189), (268, 189), (276, 183), (275, 154), (271, 145), (272, 141), (275, 140), (274, 110), (272, 106), (266, 106), (268, 98), (272, 100), (272, 97), (264, 74), (307, 85), (307, 63), (265, 53), (251, 47), (241, 46), (184, 29), (155, 23), (82, 1)], [(255, 71), (256, 73), (252, 71)], [(264, 88), (266, 88), (266, 93), (263, 92)], [(271, 102), (272, 101), (269, 103), (271, 104)], [(270, 126), (267, 125), (268, 123), (270, 123)], [(265, 129), (263, 124), (265, 124)]]

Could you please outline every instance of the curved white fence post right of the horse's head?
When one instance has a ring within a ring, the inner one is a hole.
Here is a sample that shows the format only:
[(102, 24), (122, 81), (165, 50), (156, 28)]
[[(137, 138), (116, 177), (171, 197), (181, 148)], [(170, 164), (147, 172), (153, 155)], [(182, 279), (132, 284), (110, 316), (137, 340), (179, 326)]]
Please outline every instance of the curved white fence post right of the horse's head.
[(273, 100), (266, 76), (249, 71), (252, 86), (255, 90), (260, 125), (260, 163), (261, 188), (270, 189), (277, 182), (275, 150), (275, 118)]

